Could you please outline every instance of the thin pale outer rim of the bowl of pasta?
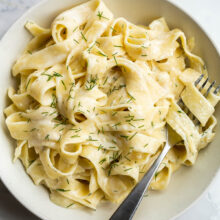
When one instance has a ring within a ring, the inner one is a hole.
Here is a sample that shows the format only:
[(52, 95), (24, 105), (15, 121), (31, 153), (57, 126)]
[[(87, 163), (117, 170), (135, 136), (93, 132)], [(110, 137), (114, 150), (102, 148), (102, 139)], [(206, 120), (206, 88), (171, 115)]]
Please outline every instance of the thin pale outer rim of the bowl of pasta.
[[(13, 29), (14, 27), (16, 27), (19, 22), (25, 18), (27, 16), (27, 14), (31, 13), (32, 11), (34, 11), (36, 8), (40, 7), (41, 5), (43, 5), (44, 3), (46, 3), (49, 0), (40, 0), (38, 3), (34, 4), (33, 6), (31, 6), (28, 10), (26, 10), (14, 23), (12, 23), (12, 25), (9, 26), (9, 28), (7, 29), (7, 31), (3, 34), (3, 36), (0, 39), (0, 47), (3, 44), (4, 40), (8, 37), (8, 35), (10, 34), (11, 29)], [(82, 1), (73, 1), (73, 4), (76, 3), (84, 3), (87, 2), (89, 0), (82, 0)], [(189, 15), (189, 13), (186, 11), (186, 9), (178, 6), (177, 4), (175, 4), (174, 2), (171, 2), (170, 0), (163, 0), (166, 2), (166, 4), (170, 4), (172, 7), (174, 7), (175, 9), (181, 11), (185, 16), (189, 17), (191, 19), (191, 21), (193, 21), (197, 27), (204, 33), (204, 35), (206, 36), (206, 38), (210, 41), (210, 43), (212, 44), (213, 48), (215, 49), (215, 52), (218, 54), (218, 57), (220, 59), (220, 46), (217, 46), (217, 43), (215, 42), (215, 40), (210, 36), (209, 32), (205, 30), (205, 28), (200, 24), (200, 22), (198, 21), (198, 19), (196, 17), (192, 17), (191, 15)], [(4, 117), (4, 116), (2, 116)], [(202, 191), (202, 193), (196, 198), (194, 199), (187, 207), (185, 207), (182, 211), (180, 211), (178, 214), (176, 214), (175, 216), (171, 217), (170, 220), (175, 220), (178, 217), (181, 217), (185, 212), (187, 212), (190, 208), (192, 208), (200, 199), (202, 196), (204, 196), (208, 190), (210, 189), (214, 179), (216, 179), (216, 176), (220, 175), (220, 167), (218, 168), (218, 170), (216, 171), (215, 175), (213, 175), (213, 177), (211, 178), (210, 182), (207, 184), (206, 188)], [(7, 190), (10, 192), (10, 194), (23, 206), (25, 207), (28, 211), (30, 211), (33, 215), (35, 215), (36, 217), (40, 218), (40, 219), (47, 219), (46, 216), (44, 215), (43, 212), (39, 213), (37, 212), (35, 209), (31, 208), (30, 206), (28, 206), (28, 204), (26, 204), (25, 202), (23, 202), (22, 198), (20, 198), (20, 196), (18, 196), (18, 194), (13, 191), (13, 189), (11, 189), (8, 184), (6, 183), (7, 180), (6, 178), (2, 178), (1, 177), (1, 173), (0, 173), (0, 180), (2, 181), (3, 185), (7, 188)]]

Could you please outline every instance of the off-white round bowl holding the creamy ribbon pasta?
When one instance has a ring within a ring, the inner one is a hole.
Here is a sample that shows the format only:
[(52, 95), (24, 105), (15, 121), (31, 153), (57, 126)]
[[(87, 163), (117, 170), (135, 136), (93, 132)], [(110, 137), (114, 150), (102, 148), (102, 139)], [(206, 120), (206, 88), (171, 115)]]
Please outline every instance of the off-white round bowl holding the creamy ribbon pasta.
[[(30, 35), (24, 29), (30, 19), (42, 26), (49, 26), (61, 11), (80, 3), (77, 0), (46, 0), (24, 14), (7, 32), (0, 43), (0, 107), (1, 112), (8, 105), (6, 91), (13, 83), (10, 69), (17, 56), (22, 52)], [(220, 83), (219, 54), (206, 33), (190, 18), (189, 15), (165, 0), (111, 0), (105, 1), (114, 15), (123, 16), (136, 24), (147, 25), (155, 18), (164, 16), (170, 27), (182, 29), (187, 36), (196, 39), (196, 54), (204, 58), (212, 80)], [(216, 111), (220, 121), (220, 108)], [(20, 161), (12, 163), (15, 142), (10, 138), (2, 113), (0, 131), (0, 175), (10, 192), (30, 211), (41, 219), (109, 219), (116, 209), (113, 204), (101, 204), (97, 211), (88, 209), (64, 209), (53, 204), (48, 192), (41, 186), (35, 186), (25, 173)], [(200, 152), (193, 167), (183, 167), (177, 171), (168, 189), (163, 192), (150, 192), (143, 199), (134, 219), (167, 220), (174, 218), (189, 207), (207, 186), (220, 167), (220, 126), (216, 128), (216, 138), (208, 148)]]

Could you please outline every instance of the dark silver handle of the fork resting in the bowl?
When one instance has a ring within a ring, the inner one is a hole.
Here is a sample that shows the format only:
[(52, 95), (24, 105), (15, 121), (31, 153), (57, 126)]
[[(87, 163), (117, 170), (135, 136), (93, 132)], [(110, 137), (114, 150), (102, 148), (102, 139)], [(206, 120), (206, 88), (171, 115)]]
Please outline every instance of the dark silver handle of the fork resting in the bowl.
[(170, 150), (169, 144), (166, 144), (159, 157), (154, 161), (148, 172), (144, 175), (142, 180), (135, 186), (127, 198), (121, 203), (110, 220), (131, 220), (137, 210), (145, 191), (147, 190), (153, 176), (158, 167)]

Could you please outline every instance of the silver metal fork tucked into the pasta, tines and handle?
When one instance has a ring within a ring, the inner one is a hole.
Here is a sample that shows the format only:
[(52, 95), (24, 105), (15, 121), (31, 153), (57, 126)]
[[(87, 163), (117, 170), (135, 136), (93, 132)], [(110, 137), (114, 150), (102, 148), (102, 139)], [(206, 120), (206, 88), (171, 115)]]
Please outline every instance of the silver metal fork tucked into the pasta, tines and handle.
[[(200, 75), (200, 77), (194, 82), (195, 86), (198, 86), (198, 84), (201, 82), (203, 77), (204, 77), (204, 74)], [(202, 86), (199, 88), (200, 92), (202, 92), (208, 80), (209, 78), (207, 77), (206, 80), (203, 82)], [(208, 94), (210, 93), (215, 83), (216, 81), (212, 82), (209, 88), (206, 91), (204, 91), (205, 97), (208, 96)], [(219, 90), (220, 90), (220, 85), (216, 87), (213, 93), (217, 94)], [(182, 108), (184, 108), (184, 103), (182, 99), (180, 99), (177, 103), (179, 105), (182, 105)], [(190, 113), (190, 110), (186, 106), (185, 106), (185, 112), (187, 114)], [(195, 125), (200, 124), (199, 120), (195, 116), (193, 116), (192, 120)], [(127, 198), (121, 203), (121, 205), (118, 207), (115, 213), (111, 216), (110, 220), (131, 220), (133, 218), (152, 178), (155, 176), (158, 167), (160, 166), (161, 162), (163, 161), (164, 157), (169, 152), (169, 150), (172, 148), (172, 146), (173, 145), (170, 142), (169, 135), (168, 135), (168, 128), (166, 125), (166, 143), (165, 143), (163, 150), (161, 151), (158, 158), (154, 161), (150, 169), (147, 171), (147, 173), (144, 175), (142, 180), (134, 187), (131, 193), (127, 196)]]

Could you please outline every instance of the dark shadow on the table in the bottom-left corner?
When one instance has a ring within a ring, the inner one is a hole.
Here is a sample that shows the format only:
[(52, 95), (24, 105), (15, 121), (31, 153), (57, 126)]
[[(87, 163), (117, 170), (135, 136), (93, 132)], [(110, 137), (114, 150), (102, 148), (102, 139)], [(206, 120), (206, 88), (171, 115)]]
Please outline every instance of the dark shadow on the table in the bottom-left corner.
[(0, 180), (0, 219), (8, 220), (39, 220), (22, 206)]

